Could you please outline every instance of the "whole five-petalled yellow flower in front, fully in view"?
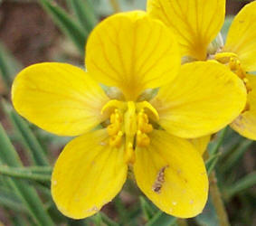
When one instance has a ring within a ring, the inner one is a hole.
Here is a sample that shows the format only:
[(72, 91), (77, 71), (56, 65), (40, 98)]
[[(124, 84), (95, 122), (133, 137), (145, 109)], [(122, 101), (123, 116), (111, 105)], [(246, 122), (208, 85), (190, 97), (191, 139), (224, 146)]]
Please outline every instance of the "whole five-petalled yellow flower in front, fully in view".
[[(162, 211), (183, 218), (202, 212), (204, 161), (180, 137), (209, 135), (236, 118), (246, 100), (242, 81), (215, 62), (180, 69), (174, 35), (140, 11), (100, 23), (86, 52), (87, 72), (65, 63), (34, 64), (12, 89), (24, 118), (57, 135), (80, 136), (53, 169), (59, 210), (75, 219), (99, 212), (119, 193), (129, 166)], [(114, 88), (105, 92), (98, 82)]]

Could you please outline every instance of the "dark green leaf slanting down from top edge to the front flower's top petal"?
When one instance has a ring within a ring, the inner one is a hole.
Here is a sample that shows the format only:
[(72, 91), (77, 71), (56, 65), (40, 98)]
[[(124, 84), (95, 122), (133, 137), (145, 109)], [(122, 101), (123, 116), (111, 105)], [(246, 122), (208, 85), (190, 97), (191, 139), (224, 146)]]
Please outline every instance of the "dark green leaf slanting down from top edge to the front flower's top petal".
[(85, 42), (88, 36), (81, 25), (72, 20), (71, 16), (67, 14), (62, 7), (54, 4), (49, 0), (39, 0), (43, 5), (44, 10), (52, 16), (55, 24), (62, 30), (65, 35), (71, 38), (71, 41), (77, 46), (79, 52), (84, 54)]

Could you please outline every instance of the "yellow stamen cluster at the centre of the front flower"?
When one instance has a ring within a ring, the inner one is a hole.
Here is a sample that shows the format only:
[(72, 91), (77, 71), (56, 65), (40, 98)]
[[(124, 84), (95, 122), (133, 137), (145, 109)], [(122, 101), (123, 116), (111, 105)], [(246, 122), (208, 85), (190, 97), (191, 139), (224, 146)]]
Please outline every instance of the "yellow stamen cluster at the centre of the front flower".
[(110, 124), (107, 127), (109, 146), (120, 147), (125, 144), (126, 162), (133, 164), (136, 146), (147, 147), (150, 144), (148, 134), (153, 131), (153, 126), (148, 115), (157, 121), (158, 113), (147, 101), (123, 102), (116, 99), (109, 100), (101, 112), (107, 110), (110, 113)]

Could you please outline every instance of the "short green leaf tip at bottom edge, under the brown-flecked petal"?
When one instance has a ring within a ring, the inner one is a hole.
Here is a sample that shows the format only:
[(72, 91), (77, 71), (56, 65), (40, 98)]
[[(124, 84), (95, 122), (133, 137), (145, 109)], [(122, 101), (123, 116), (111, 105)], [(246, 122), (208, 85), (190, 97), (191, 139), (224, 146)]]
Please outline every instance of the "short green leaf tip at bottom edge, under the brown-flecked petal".
[(166, 214), (165, 212), (157, 212), (156, 215), (150, 220), (147, 221), (147, 226), (171, 226), (175, 225), (175, 217)]

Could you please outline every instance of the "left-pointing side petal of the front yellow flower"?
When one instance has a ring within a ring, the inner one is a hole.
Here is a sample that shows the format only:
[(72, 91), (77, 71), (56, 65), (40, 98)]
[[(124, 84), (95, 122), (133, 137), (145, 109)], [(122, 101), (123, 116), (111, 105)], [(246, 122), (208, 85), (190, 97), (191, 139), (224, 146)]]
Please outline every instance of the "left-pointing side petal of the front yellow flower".
[(63, 136), (89, 131), (102, 121), (108, 101), (88, 73), (65, 63), (38, 63), (21, 71), (12, 89), (14, 108), (38, 127)]

